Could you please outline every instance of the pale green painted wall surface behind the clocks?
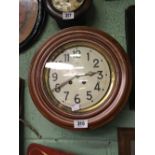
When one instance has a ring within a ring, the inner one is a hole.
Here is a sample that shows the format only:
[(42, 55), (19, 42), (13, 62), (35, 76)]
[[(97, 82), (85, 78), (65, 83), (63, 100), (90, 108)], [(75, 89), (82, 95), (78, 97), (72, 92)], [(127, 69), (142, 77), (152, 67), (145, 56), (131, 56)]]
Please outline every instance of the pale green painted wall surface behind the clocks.
[[(103, 30), (113, 36), (126, 50), (125, 9), (134, 4), (134, 0), (94, 0), (94, 7), (87, 18), (87, 25)], [(128, 104), (108, 125), (87, 132), (74, 132), (62, 129), (44, 118), (34, 106), (28, 89), (28, 72), (33, 55), (52, 35), (60, 31), (54, 19), (47, 18), (45, 28), (37, 41), (20, 54), (19, 72), (25, 80), (24, 117), (42, 135), (39, 139), (25, 127), (25, 152), (30, 143), (39, 143), (54, 148), (74, 152), (77, 155), (118, 155), (117, 127), (134, 127), (134, 111)]]

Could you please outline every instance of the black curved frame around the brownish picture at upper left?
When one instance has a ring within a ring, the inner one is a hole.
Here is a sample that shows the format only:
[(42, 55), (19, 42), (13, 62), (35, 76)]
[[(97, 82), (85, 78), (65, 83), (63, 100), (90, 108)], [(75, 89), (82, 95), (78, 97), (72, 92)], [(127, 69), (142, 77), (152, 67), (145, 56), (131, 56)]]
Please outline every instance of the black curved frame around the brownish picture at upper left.
[[(41, 29), (43, 27), (43, 23), (45, 21), (45, 10), (43, 8), (43, 2), (42, 0), (37, 0), (38, 1), (38, 15), (36, 18), (35, 25), (32, 28), (31, 33), (27, 36), (25, 40), (23, 40), (21, 43), (19, 43), (19, 52), (22, 52), (25, 50), (40, 34)], [(19, 34), (20, 35), (20, 34)]]

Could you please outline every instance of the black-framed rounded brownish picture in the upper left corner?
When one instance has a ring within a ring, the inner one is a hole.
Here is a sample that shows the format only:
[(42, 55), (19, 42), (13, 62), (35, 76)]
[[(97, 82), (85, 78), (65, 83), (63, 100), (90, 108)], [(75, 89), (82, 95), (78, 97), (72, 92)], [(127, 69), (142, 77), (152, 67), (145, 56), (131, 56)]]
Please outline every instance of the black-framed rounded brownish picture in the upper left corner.
[(24, 49), (40, 32), (45, 12), (42, 0), (19, 1), (19, 48)]

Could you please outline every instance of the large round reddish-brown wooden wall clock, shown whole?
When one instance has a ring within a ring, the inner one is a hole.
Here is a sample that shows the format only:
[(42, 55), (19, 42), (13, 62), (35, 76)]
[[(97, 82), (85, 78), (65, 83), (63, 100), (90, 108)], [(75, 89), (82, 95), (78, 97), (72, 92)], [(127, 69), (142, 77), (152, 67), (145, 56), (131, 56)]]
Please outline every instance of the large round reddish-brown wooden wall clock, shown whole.
[(67, 28), (50, 38), (33, 58), (29, 88), (39, 111), (75, 130), (111, 121), (126, 103), (131, 67), (123, 48), (108, 34)]

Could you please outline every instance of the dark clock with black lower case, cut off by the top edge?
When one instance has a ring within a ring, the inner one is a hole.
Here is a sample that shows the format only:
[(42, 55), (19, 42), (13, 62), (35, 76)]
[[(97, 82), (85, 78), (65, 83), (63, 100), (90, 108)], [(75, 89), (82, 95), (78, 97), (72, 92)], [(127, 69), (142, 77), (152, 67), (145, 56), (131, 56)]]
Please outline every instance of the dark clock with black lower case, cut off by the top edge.
[(49, 14), (60, 27), (83, 25), (92, 0), (44, 0)]

